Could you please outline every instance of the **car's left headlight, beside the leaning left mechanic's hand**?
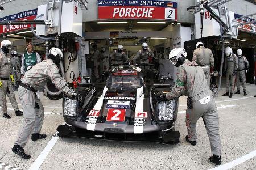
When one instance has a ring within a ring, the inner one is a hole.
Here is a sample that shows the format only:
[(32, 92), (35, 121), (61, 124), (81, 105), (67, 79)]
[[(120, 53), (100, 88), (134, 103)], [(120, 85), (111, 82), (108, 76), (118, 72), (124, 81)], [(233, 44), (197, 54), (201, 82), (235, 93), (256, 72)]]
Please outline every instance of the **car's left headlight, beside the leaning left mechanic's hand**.
[(64, 97), (64, 116), (76, 116), (78, 101)]

